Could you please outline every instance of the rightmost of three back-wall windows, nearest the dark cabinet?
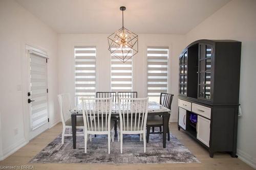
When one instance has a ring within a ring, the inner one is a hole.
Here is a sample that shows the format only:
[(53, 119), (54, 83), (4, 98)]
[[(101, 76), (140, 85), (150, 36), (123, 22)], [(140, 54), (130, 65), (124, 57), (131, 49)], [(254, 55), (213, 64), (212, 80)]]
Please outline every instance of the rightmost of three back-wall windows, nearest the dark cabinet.
[(147, 47), (147, 96), (160, 102), (160, 93), (167, 92), (168, 47)]

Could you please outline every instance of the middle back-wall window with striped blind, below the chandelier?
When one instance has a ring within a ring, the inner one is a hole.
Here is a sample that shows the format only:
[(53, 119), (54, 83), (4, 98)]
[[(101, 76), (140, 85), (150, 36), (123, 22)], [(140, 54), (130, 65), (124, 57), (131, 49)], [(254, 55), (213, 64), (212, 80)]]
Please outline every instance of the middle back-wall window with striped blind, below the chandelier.
[(132, 58), (123, 63), (111, 54), (111, 91), (132, 91), (132, 65)]

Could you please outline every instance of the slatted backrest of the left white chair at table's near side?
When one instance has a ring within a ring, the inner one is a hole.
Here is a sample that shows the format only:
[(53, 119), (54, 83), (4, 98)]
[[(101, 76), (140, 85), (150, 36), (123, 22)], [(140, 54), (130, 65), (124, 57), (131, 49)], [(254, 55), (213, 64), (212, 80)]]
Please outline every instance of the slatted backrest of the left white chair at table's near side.
[(82, 114), (85, 131), (109, 131), (112, 97), (82, 98)]

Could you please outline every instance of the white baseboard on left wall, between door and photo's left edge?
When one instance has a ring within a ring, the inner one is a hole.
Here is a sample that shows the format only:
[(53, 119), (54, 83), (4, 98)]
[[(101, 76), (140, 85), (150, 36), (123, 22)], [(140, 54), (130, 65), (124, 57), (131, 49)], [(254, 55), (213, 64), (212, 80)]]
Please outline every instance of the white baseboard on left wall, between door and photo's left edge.
[(28, 144), (28, 142), (29, 141), (27, 141), (25, 138), (22, 138), (18, 142), (10, 145), (10, 147), (3, 150), (3, 156), (0, 157), (0, 160), (4, 160), (8, 156), (12, 155), (14, 152)]

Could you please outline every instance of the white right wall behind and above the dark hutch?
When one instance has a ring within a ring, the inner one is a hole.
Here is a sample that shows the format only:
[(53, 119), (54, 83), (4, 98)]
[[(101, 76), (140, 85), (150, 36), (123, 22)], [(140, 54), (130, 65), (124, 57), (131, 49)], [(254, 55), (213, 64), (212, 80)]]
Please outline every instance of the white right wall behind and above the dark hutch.
[(242, 41), (238, 155), (256, 168), (256, 1), (233, 0), (186, 35), (186, 45), (197, 39)]

